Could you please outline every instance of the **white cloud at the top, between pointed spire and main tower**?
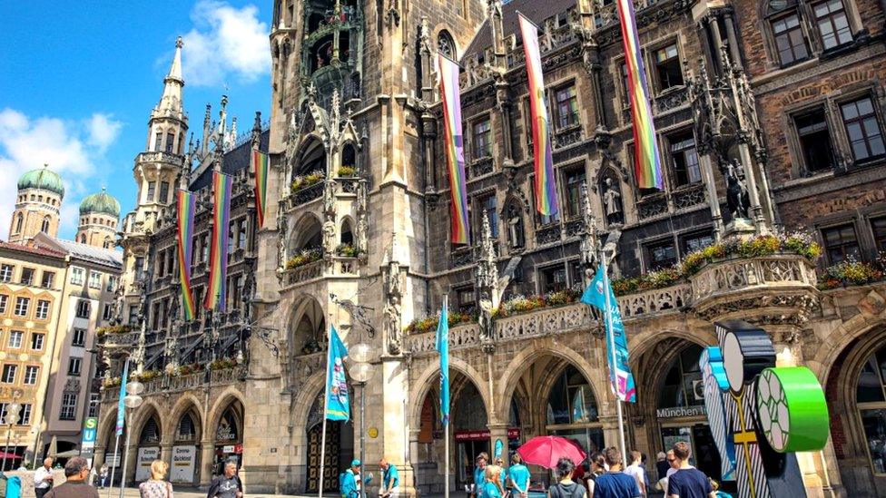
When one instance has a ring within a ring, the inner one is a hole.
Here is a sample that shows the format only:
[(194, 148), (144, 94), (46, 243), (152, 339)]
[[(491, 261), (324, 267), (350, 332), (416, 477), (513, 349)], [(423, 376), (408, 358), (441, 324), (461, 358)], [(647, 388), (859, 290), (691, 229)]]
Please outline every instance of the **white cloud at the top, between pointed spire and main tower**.
[(237, 78), (250, 83), (271, 71), (268, 24), (259, 9), (217, 0), (194, 6), (193, 29), (183, 36), (182, 76), (187, 84), (212, 86)]

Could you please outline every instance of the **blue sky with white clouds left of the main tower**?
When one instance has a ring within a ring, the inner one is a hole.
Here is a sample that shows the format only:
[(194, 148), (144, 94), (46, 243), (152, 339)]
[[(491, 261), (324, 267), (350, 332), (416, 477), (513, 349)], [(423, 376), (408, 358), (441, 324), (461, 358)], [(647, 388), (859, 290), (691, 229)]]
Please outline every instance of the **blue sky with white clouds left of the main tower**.
[(222, 93), (240, 132), (271, 102), (271, 2), (153, 0), (0, 2), (0, 239), (15, 180), (48, 162), (67, 192), (59, 235), (71, 239), (85, 195), (103, 186), (133, 209), (133, 159), (162, 94), (175, 38), (190, 131)]

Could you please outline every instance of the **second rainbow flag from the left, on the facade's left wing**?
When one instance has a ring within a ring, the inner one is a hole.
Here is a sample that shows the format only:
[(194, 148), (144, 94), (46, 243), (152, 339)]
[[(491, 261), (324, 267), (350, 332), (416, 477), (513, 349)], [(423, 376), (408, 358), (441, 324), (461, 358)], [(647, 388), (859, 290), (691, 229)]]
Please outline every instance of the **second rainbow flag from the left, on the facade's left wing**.
[(224, 312), (228, 284), (228, 230), (231, 224), (231, 175), (212, 172), (212, 245), (209, 286), (203, 308)]

